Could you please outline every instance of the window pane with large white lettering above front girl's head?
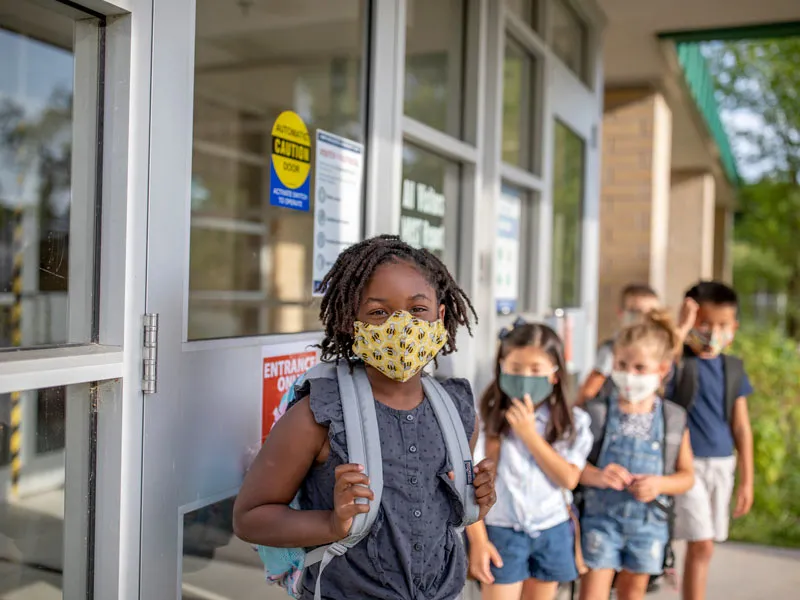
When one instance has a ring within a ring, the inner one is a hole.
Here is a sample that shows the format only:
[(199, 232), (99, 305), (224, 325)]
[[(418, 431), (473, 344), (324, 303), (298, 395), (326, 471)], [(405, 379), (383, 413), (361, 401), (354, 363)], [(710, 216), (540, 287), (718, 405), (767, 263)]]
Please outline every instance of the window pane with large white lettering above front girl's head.
[(403, 147), (403, 190), (400, 237), (418, 248), (426, 248), (447, 262), (454, 260), (455, 228), (460, 190), (458, 163), (422, 150), (412, 144)]

